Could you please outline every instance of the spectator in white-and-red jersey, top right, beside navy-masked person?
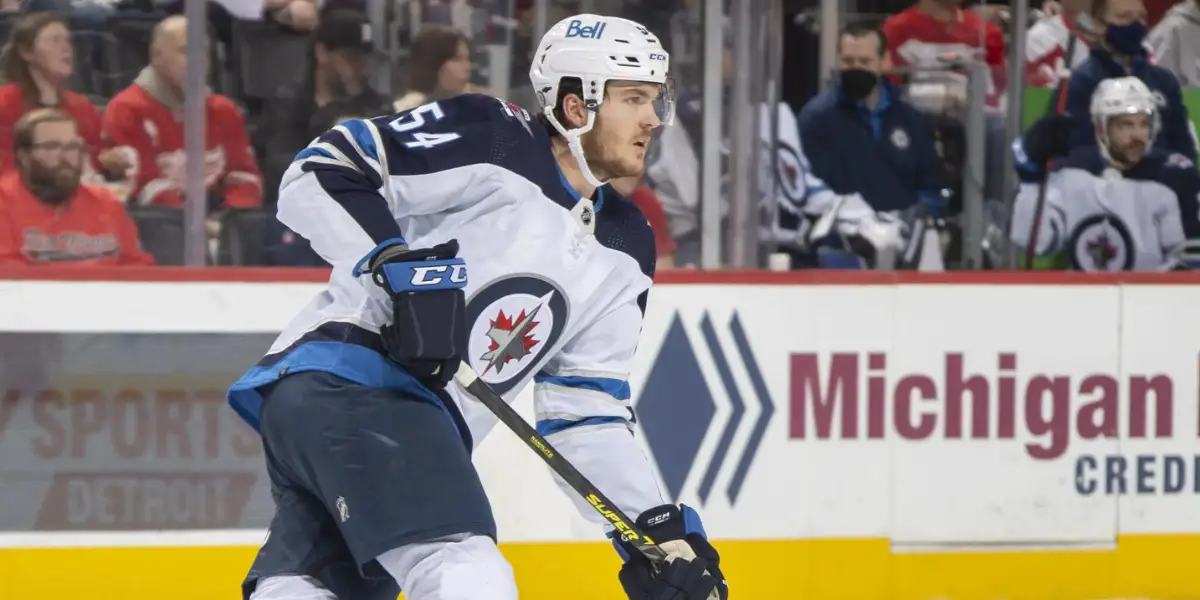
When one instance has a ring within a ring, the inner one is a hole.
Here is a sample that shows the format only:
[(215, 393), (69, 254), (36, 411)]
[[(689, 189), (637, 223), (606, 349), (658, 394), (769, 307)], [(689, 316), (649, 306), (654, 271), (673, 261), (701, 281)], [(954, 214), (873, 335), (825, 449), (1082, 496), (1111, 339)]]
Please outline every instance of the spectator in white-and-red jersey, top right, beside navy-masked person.
[[(1025, 76), (1028, 85), (1055, 88), (1062, 71), (1078, 67), (1087, 60), (1092, 36), (1092, 0), (1063, 0), (1062, 12), (1039, 19), (1030, 28), (1025, 42)], [(1075, 43), (1069, 60), (1067, 48)]]

